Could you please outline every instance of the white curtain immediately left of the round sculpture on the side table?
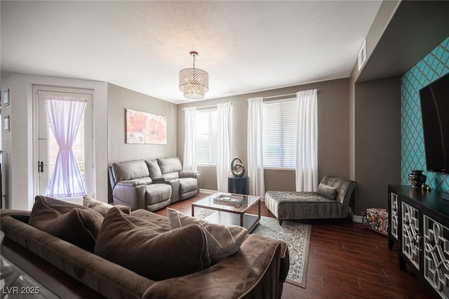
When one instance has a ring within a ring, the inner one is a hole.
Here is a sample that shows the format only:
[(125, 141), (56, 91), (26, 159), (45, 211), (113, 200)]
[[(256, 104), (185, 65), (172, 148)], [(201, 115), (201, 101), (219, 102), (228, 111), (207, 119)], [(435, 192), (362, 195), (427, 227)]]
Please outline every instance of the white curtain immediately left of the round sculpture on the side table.
[(232, 104), (217, 104), (217, 191), (228, 192), (227, 176), (231, 174)]

